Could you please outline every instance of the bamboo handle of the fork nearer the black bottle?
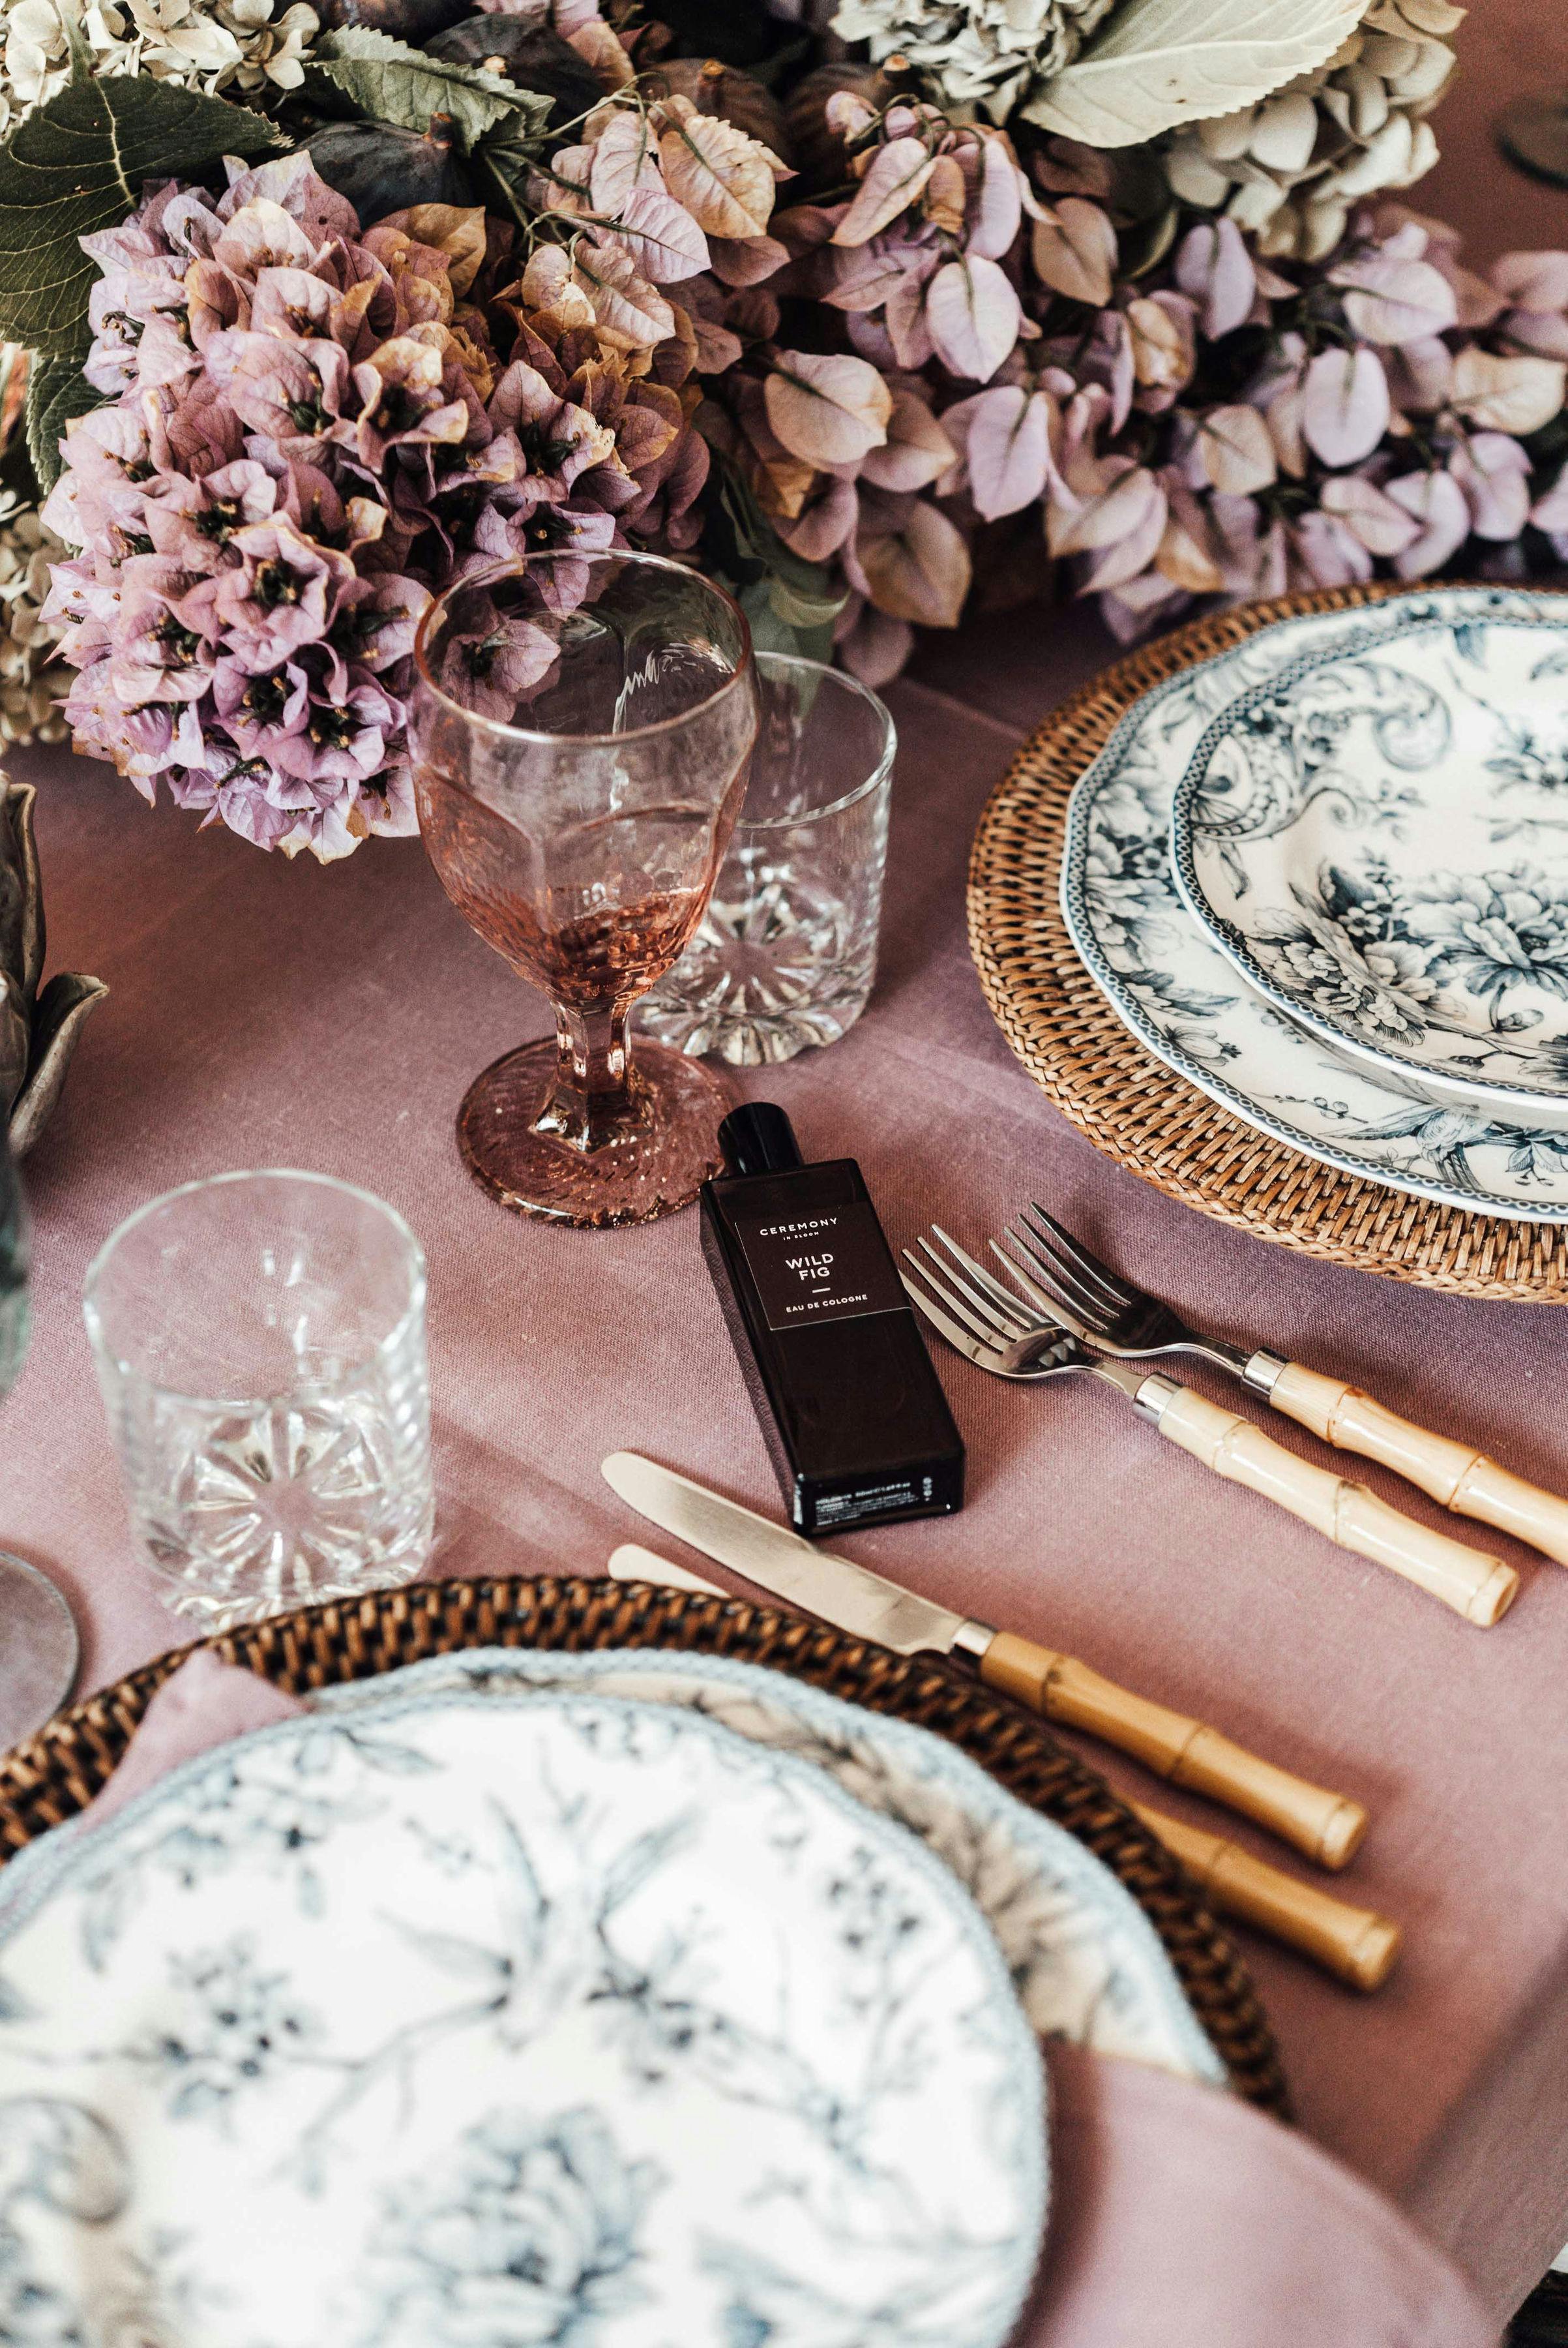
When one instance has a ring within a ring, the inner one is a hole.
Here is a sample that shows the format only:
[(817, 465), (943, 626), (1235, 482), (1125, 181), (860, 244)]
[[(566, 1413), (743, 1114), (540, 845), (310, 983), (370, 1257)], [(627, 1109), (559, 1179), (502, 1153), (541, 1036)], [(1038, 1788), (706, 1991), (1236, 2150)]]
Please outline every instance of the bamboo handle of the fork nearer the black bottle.
[[(1155, 1395), (1145, 1402), (1150, 1388)], [(1162, 1388), (1169, 1388), (1169, 1395), (1160, 1392)], [(1204, 1468), (1214, 1468), (1232, 1484), (1246, 1484), (1249, 1491), (1263, 1493), (1265, 1500), (1275, 1500), (1305, 1524), (1314, 1524), (1340, 1550), (1354, 1550), (1357, 1557), (1371, 1557), (1373, 1564), (1404, 1573), (1408, 1583), (1427, 1590), (1444, 1606), (1453, 1606), (1467, 1622), (1486, 1627), (1512, 1606), (1519, 1573), (1500, 1557), (1469, 1550), (1462, 1540), (1451, 1540), (1448, 1533), (1401, 1517), (1366, 1484), (1352, 1484), (1347, 1477), (1333, 1475), (1331, 1468), (1312, 1468), (1310, 1460), (1296, 1458), (1263, 1428), (1256, 1428), (1251, 1418), (1221, 1409), (1192, 1392), (1190, 1385), (1176, 1385), (1174, 1378), (1145, 1378), (1138, 1406), (1155, 1416), (1150, 1404), (1157, 1404), (1155, 1423), (1167, 1442), (1190, 1451)]]

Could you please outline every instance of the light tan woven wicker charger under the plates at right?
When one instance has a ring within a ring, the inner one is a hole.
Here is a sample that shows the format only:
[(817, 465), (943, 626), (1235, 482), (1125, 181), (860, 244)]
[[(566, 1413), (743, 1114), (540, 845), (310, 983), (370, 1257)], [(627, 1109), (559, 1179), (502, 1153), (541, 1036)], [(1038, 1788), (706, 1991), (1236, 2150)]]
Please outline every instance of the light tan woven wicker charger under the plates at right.
[(1333, 587), (1195, 620), (1117, 660), (1052, 711), (981, 815), (969, 857), (969, 951), (1002, 1035), (1063, 1118), (1183, 1205), (1359, 1273), (1462, 1296), (1568, 1303), (1568, 1226), (1437, 1207), (1244, 1125), (1129, 1035), (1061, 918), (1073, 784), (1141, 695), (1275, 620), (1399, 592)]

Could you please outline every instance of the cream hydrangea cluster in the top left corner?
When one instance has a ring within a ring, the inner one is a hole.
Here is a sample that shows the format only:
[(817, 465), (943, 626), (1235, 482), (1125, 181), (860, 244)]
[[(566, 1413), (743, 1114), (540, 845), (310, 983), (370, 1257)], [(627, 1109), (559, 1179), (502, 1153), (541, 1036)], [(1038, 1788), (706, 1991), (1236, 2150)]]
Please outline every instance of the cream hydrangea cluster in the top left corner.
[(298, 89), (322, 21), (307, 0), (12, 0), (0, 49), (0, 134), (70, 80), (80, 31), (99, 73), (256, 99)]

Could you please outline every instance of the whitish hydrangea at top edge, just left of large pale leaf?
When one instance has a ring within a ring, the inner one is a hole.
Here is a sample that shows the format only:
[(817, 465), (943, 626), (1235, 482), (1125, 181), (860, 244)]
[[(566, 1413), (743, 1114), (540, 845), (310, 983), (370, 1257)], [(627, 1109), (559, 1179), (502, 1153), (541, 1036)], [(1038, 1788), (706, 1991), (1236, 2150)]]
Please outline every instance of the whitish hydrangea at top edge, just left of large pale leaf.
[(843, 0), (833, 31), (871, 56), (925, 68), (955, 110), (1005, 122), (1038, 80), (1077, 56), (1115, 0)]

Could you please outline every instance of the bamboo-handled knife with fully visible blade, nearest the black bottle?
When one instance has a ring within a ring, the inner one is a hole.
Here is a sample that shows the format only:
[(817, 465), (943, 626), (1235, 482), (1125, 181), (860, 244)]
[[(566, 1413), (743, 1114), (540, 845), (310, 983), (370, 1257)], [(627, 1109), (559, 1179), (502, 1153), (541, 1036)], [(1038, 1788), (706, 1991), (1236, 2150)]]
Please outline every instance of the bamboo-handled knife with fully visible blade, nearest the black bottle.
[(899, 1590), (880, 1573), (815, 1547), (800, 1533), (638, 1451), (613, 1451), (601, 1472), (610, 1491), (650, 1524), (688, 1540), (704, 1557), (716, 1557), (770, 1597), (833, 1622), (852, 1639), (887, 1646), (894, 1655), (962, 1660), (988, 1688), (1019, 1698), (1047, 1721), (1063, 1721), (1115, 1745), (1155, 1777), (1256, 1820), (1319, 1867), (1343, 1867), (1366, 1834), (1361, 1803), (1275, 1768), (1204, 1721), (1120, 1688), (1075, 1655), (1059, 1655)]

